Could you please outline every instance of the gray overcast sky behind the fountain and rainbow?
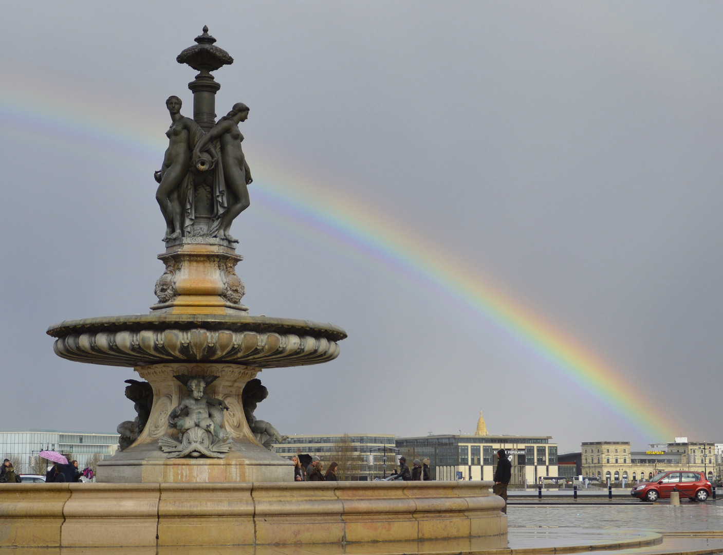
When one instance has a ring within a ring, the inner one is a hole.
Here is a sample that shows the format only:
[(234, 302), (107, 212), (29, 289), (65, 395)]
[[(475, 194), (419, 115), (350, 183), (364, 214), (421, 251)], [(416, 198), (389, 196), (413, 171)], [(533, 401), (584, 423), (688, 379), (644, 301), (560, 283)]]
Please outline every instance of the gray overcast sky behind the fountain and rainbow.
[[(64, 361), (45, 330), (153, 304), (164, 101), (191, 115), (194, 72), (175, 58), (208, 25), (236, 60), (215, 73), (217, 112), (251, 107), (252, 205), (232, 230), (244, 302), (349, 334), (332, 363), (263, 371), (262, 418), (471, 433), (482, 408), (492, 433), (563, 451), (723, 442), (720, 2), (2, 4), (3, 428), (132, 418), (132, 369)], [(604, 361), (612, 392), (419, 275), (286, 222), (263, 202), (276, 182), (342, 194), (462, 261)]]

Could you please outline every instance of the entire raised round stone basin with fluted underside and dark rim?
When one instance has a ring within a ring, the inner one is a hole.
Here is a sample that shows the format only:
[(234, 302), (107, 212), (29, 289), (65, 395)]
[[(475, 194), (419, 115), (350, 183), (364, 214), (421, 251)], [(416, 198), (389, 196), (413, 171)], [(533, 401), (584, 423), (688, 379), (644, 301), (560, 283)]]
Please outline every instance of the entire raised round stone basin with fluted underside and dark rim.
[(134, 314), (64, 320), (48, 328), (70, 361), (108, 366), (226, 362), (278, 368), (331, 361), (346, 332), (333, 324), (226, 314)]

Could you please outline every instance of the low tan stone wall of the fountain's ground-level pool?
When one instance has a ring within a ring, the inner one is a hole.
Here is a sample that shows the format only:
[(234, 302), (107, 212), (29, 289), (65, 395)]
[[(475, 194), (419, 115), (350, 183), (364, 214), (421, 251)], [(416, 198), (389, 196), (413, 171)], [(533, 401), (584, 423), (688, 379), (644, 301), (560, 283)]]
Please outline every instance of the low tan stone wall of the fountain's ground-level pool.
[(0, 488), (0, 546), (180, 547), (507, 532), (492, 482), (56, 483)]

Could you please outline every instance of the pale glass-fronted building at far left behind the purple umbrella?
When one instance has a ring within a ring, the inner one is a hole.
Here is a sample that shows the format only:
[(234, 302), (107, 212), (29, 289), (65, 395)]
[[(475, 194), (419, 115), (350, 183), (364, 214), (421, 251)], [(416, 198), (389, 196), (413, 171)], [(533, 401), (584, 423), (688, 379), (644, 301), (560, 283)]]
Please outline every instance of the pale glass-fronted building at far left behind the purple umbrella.
[(25, 474), (32, 473), (40, 451), (57, 451), (85, 468), (91, 457), (106, 459), (114, 455), (119, 437), (85, 431), (0, 430), (0, 454), (19, 461), (20, 473)]

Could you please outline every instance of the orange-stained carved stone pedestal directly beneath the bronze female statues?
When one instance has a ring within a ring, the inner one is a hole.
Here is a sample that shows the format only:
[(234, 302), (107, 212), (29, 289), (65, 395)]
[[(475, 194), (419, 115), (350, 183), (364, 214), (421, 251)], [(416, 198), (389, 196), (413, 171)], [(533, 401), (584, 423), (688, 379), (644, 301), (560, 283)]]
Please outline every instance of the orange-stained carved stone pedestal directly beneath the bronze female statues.
[(244, 257), (228, 245), (209, 237), (174, 241), (158, 255), (166, 271), (155, 283), (158, 304), (150, 309), (161, 314), (247, 314), (241, 304), (244, 283), (235, 270)]

